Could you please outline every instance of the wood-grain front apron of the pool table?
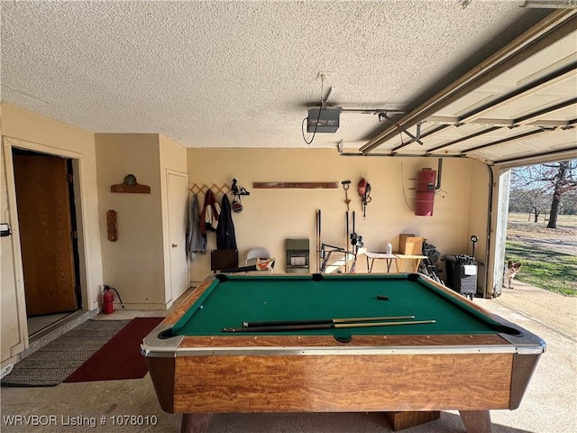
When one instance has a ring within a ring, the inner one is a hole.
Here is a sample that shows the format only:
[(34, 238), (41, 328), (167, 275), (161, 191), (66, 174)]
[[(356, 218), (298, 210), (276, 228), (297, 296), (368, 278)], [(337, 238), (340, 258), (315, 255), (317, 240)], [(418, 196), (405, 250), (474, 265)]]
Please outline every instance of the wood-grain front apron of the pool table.
[(145, 358), (168, 412), (516, 409), (540, 355), (519, 355), (498, 335), (381, 336), (384, 346), (375, 336), (354, 336), (354, 346), (325, 336), (180, 338), (171, 355)]

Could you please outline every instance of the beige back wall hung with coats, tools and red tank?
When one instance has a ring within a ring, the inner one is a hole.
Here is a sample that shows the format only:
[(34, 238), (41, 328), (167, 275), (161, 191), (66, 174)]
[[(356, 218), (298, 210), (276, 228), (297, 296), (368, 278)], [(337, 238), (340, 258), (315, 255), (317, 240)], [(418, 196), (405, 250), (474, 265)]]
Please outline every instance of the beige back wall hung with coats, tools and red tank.
[[(444, 198), (436, 196), (433, 217), (416, 217), (411, 210), (415, 180), (417, 171), (426, 167), (436, 170), (437, 160), (343, 157), (332, 150), (318, 149), (188, 149), (190, 185), (230, 186), (235, 178), (251, 192), (242, 198), (243, 212), (233, 213), (239, 261), (244, 263), (249, 248), (266, 246), (277, 258), (277, 272), (285, 269), (286, 238), (310, 240), (311, 271), (316, 272), (316, 209), (322, 211), (322, 242), (344, 246), (346, 205), (342, 180), (352, 181), (350, 210), (356, 214), (356, 232), (362, 235), (369, 251), (384, 251), (388, 242), (397, 250), (398, 234), (415, 233), (426, 237), (441, 253), (471, 253), (472, 231), (479, 232), (484, 242), (481, 232), (487, 215), (486, 191), (472, 193), (471, 189), (487, 188), (488, 170), (477, 161), (444, 160), (439, 191)], [(372, 188), (366, 217), (362, 217), (361, 198), (356, 191), (362, 177)], [(339, 189), (253, 189), (252, 182), (256, 181), (336, 181)], [(222, 194), (217, 198), (220, 201)], [(200, 194), (201, 207), (203, 199)], [(208, 235), (208, 252), (211, 249), (215, 249), (213, 233)], [(384, 263), (375, 263), (373, 272), (384, 270)], [(191, 265), (192, 281), (200, 281), (210, 272), (209, 253), (199, 254)], [(364, 258), (358, 272), (366, 272)]]

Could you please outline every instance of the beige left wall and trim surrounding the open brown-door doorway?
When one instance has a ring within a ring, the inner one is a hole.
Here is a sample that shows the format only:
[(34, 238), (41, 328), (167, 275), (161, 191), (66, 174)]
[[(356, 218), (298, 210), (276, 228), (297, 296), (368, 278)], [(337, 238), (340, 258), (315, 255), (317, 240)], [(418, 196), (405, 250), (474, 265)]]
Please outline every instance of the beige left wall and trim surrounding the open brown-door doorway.
[(98, 307), (102, 286), (102, 254), (98, 229), (94, 134), (3, 103), (2, 135), (5, 150), (3, 169), (5, 169), (6, 177), (3, 176), (2, 179), (0, 211), (3, 216), (9, 215), (13, 229), (12, 236), (2, 238), (2, 360), (4, 362), (10, 356), (22, 352), (23, 345), (27, 344), (18, 220), (14, 205), (14, 171), (11, 153), (13, 146), (65, 156), (78, 161), (79, 185), (76, 189), (82, 203), (82, 206), (77, 209), (82, 238), (80, 253), (87, 263), (81, 274), (84, 309)]

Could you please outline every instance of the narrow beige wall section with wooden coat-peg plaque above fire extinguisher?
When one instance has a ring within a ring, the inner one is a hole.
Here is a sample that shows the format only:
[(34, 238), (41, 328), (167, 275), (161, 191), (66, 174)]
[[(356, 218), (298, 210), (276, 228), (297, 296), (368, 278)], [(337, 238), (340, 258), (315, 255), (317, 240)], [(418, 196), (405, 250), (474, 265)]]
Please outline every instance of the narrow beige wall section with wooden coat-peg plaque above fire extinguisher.
[[(95, 134), (100, 239), (105, 284), (130, 309), (165, 305), (160, 150), (158, 134)], [(113, 193), (111, 185), (133, 174), (151, 194)], [(106, 211), (118, 216), (118, 240), (108, 241)]]

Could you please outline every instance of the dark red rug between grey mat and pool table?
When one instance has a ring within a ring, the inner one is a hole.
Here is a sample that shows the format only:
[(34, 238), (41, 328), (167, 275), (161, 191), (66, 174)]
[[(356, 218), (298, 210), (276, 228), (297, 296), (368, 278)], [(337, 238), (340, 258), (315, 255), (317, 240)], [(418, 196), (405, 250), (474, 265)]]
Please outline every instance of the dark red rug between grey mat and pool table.
[(144, 356), (141, 355), (142, 338), (162, 319), (134, 318), (64, 382), (141, 379), (148, 373)]

